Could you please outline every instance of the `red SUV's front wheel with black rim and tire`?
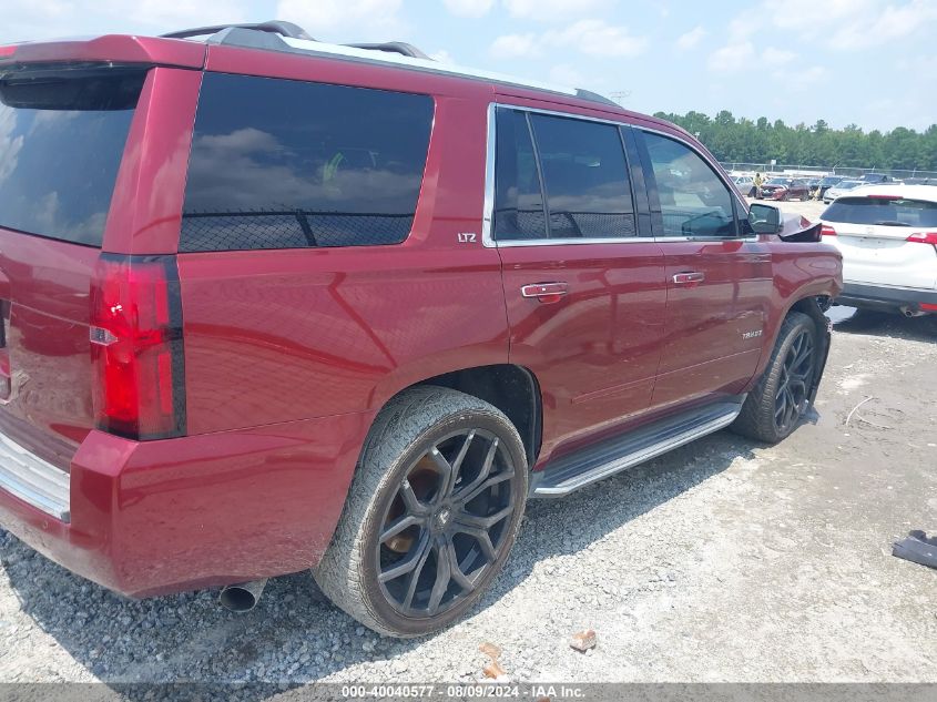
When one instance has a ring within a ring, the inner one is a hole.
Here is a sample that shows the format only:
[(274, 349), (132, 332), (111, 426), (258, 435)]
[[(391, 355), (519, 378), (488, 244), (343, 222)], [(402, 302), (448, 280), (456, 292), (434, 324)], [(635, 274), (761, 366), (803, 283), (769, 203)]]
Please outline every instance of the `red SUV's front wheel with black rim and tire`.
[[(798, 362), (803, 352), (803, 347), (796, 346), (798, 343), (809, 345), (806, 360)], [(777, 444), (790, 436), (809, 408), (817, 359), (816, 325), (807, 315), (792, 312), (781, 325), (764, 375), (745, 398), (732, 430), (767, 444)]]

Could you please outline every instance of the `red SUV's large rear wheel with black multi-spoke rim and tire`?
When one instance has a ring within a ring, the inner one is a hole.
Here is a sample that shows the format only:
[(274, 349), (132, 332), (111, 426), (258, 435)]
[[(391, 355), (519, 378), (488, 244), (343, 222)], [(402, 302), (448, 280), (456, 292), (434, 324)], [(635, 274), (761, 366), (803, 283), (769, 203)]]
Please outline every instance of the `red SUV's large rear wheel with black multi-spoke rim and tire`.
[(448, 388), (407, 390), (375, 420), (313, 577), (379, 633), (445, 629), (503, 567), (527, 489), (523, 444), (503, 413)]

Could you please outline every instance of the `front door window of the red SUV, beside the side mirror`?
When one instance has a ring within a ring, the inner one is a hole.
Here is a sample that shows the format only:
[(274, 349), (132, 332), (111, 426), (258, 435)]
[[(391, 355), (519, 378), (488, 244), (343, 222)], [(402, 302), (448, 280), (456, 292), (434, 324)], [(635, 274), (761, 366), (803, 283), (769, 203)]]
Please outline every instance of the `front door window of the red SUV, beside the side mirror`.
[(664, 236), (737, 235), (732, 194), (689, 146), (643, 132), (658, 185)]

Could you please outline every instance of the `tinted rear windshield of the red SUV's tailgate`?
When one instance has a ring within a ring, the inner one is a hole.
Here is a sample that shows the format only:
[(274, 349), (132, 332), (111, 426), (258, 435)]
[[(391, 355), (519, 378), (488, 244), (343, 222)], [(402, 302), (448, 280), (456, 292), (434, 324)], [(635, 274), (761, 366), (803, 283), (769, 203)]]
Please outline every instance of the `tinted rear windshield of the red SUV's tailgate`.
[(0, 226), (101, 246), (142, 71), (0, 80)]

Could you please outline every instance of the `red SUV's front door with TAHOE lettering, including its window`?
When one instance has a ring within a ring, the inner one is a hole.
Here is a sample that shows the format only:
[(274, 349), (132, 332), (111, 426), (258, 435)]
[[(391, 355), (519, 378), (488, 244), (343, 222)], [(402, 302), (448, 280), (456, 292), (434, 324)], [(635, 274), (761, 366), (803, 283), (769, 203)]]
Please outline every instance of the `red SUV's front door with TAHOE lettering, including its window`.
[(666, 328), (653, 406), (734, 395), (755, 373), (773, 291), (771, 251), (713, 164), (676, 136), (635, 130), (666, 262)]

